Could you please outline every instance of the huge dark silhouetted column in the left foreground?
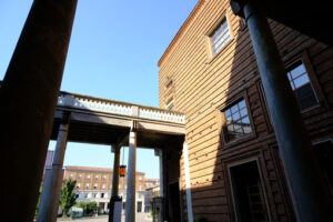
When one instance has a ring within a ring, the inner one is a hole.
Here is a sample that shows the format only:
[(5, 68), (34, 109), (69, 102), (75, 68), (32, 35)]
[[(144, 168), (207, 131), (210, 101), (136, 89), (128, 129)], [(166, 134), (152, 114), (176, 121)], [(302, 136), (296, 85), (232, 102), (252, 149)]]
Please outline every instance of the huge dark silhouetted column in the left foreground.
[(12, 221), (34, 215), (75, 8), (33, 1), (1, 85), (1, 176), (19, 182), (1, 183), (0, 195)]

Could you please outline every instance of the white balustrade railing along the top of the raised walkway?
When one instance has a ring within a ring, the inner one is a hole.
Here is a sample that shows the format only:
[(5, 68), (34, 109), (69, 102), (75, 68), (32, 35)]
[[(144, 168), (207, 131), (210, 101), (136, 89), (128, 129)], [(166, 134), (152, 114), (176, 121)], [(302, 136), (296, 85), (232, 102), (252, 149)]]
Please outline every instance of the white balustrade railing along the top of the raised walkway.
[(104, 100), (80, 94), (69, 94), (64, 92), (61, 92), (58, 97), (58, 105), (112, 114), (139, 117), (167, 122), (185, 122), (184, 114), (174, 111), (168, 111), (158, 108), (150, 108), (112, 100)]

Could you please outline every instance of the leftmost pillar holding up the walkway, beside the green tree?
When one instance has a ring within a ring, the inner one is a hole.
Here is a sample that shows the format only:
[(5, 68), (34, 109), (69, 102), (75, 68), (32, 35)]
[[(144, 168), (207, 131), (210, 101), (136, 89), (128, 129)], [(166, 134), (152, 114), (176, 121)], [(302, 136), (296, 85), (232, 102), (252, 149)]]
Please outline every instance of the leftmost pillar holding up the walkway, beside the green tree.
[(59, 195), (62, 185), (62, 165), (67, 145), (69, 124), (60, 124), (52, 168), (46, 176), (38, 211), (38, 222), (56, 222)]

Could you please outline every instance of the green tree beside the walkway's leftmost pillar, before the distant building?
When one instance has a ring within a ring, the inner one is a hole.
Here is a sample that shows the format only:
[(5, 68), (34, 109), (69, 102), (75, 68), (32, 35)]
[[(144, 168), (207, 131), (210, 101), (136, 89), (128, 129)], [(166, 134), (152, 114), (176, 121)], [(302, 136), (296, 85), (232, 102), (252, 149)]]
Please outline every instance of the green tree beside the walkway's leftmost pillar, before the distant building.
[(75, 204), (75, 193), (74, 193), (74, 188), (75, 188), (75, 180), (69, 179), (68, 181), (64, 182), (62, 189), (61, 189), (61, 194), (60, 194), (60, 206), (64, 212), (64, 215), (68, 213), (70, 208), (72, 208)]

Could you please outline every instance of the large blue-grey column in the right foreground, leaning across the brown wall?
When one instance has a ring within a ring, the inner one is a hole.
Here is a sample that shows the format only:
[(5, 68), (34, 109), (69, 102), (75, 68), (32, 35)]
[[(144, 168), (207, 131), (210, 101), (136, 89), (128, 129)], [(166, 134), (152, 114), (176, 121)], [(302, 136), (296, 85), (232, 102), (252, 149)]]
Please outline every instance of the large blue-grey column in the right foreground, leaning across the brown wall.
[(231, 7), (249, 27), (296, 219), (332, 221), (329, 192), (265, 14), (254, 0), (233, 0)]

